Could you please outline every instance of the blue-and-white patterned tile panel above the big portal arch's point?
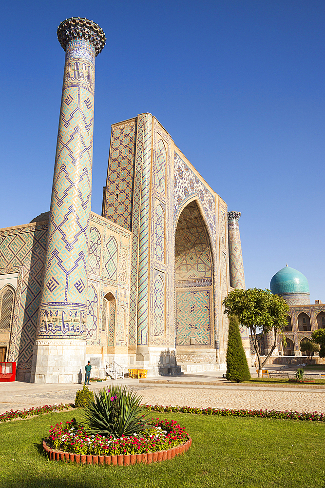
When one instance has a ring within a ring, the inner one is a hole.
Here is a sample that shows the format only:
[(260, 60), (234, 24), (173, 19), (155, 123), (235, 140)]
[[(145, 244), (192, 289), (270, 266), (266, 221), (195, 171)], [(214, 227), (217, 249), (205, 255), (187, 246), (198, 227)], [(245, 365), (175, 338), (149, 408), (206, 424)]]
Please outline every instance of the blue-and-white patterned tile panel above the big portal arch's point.
[(213, 240), (216, 238), (214, 197), (197, 178), (186, 163), (174, 152), (174, 218), (182, 202), (192, 194), (197, 194), (210, 225)]

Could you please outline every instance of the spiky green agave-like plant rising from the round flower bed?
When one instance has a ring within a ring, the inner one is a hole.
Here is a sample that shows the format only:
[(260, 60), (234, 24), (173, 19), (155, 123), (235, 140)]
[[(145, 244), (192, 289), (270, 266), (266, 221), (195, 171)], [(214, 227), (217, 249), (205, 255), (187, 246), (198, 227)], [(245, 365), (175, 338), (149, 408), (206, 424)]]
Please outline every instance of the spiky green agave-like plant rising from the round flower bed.
[(92, 434), (119, 438), (130, 436), (148, 428), (149, 413), (140, 407), (142, 396), (126, 386), (112, 385), (101, 388), (94, 401), (84, 407), (83, 418)]

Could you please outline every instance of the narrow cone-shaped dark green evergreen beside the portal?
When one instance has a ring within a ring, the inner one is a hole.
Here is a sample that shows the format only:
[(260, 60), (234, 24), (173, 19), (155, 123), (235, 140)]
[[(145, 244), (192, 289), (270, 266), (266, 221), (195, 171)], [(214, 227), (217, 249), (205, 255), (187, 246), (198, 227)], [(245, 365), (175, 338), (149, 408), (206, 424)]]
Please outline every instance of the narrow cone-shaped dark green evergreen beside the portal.
[(247, 364), (242, 338), (240, 337), (239, 320), (236, 315), (230, 315), (229, 317), (226, 362), (227, 380), (237, 383), (250, 380), (249, 366)]

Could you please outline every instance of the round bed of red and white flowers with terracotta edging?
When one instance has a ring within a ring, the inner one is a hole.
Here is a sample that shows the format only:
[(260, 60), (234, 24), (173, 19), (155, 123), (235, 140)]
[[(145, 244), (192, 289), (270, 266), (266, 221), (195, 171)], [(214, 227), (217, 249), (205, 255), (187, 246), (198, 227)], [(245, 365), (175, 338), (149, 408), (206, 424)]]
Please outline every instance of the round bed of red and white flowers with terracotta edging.
[(189, 434), (175, 421), (157, 418), (150, 424), (139, 434), (115, 439), (91, 435), (85, 425), (72, 419), (51, 426), (43, 447), (50, 459), (122, 465), (171, 459), (191, 446)]

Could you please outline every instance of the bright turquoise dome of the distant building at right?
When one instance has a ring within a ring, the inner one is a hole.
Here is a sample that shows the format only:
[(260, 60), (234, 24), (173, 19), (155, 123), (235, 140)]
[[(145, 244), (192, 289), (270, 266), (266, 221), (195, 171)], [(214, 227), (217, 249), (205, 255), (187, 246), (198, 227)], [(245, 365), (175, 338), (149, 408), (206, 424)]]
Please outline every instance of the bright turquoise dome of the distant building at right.
[(280, 269), (270, 283), (271, 292), (274, 295), (282, 295), (284, 293), (308, 293), (309, 285), (305, 275), (297, 269), (286, 266)]

